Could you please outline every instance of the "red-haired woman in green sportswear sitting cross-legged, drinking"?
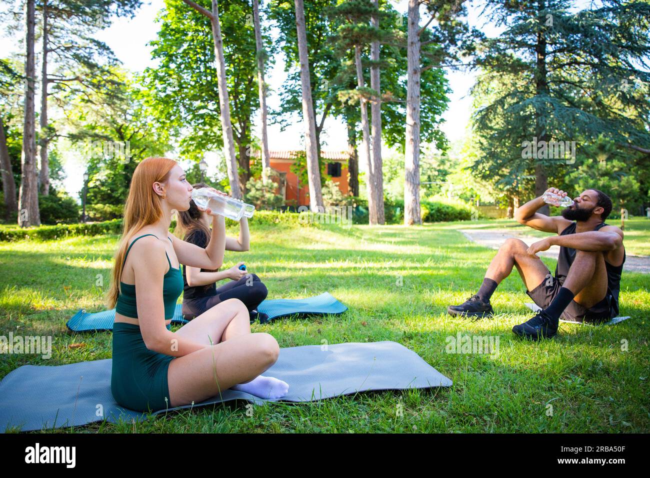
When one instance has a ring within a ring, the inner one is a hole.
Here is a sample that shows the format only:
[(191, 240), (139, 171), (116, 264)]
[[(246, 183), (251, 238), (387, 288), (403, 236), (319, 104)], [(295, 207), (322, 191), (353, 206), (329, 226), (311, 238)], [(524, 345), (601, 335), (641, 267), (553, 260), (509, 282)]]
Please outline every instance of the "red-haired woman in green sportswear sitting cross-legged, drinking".
[(166, 328), (183, 291), (181, 263), (218, 269), (224, 259), (224, 217), (211, 209), (205, 248), (168, 232), (172, 209), (187, 211), (191, 193), (172, 159), (144, 159), (131, 179), (108, 293), (116, 308), (110, 390), (131, 410), (199, 403), (227, 388), (269, 399), (289, 390), (286, 382), (260, 375), (278, 360), (278, 342), (251, 333), (239, 299), (216, 304), (176, 332)]

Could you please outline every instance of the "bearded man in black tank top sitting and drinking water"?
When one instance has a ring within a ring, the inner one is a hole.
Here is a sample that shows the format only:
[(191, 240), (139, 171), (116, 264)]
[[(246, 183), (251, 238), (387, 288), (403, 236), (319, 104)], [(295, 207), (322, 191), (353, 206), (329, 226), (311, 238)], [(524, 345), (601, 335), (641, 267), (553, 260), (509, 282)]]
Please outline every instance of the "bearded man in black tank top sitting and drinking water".
[[(556, 188), (549, 188), (548, 192), (560, 198), (567, 196)], [(612, 200), (602, 191), (587, 189), (574, 201), (573, 206), (562, 210), (561, 216), (537, 212), (545, 205), (543, 196), (519, 207), (515, 213), (517, 222), (557, 235), (530, 247), (519, 239), (507, 239), (487, 268), (478, 292), (461, 305), (449, 306), (447, 312), (470, 317), (493, 315), (489, 299), (516, 267), (526, 293), (541, 308), (532, 319), (512, 328), (517, 336), (551, 338), (558, 331), (560, 317), (589, 323), (616, 317), (625, 247), (623, 231), (604, 222), (612, 211)], [(559, 206), (559, 202), (554, 205)], [(552, 245), (560, 246), (554, 276), (536, 256)]]

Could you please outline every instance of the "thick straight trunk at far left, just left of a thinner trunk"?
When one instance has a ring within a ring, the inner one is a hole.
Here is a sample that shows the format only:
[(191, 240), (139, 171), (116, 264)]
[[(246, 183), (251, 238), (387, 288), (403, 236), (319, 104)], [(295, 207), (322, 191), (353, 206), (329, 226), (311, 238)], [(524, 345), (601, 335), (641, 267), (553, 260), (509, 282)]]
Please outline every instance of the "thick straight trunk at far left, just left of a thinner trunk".
[(40, 226), (38, 176), (36, 174), (36, 118), (34, 114), (34, 0), (27, 0), (27, 56), (25, 58), (25, 122), (23, 124), (22, 178), (18, 196), (18, 224)]

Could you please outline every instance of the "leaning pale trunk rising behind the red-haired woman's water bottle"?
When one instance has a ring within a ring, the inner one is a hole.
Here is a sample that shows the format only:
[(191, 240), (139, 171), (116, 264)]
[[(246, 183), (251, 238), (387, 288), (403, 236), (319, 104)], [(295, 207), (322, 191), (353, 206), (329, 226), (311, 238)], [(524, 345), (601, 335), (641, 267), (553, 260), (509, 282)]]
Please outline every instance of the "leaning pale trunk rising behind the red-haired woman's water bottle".
[(221, 127), (224, 137), (224, 155), (226, 155), (226, 169), (230, 179), (230, 194), (233, 198), (242, 198), (242, 187), (237, 171), (237, 157), (235, 157), (235, 140), (233, 139), (233, 125), (230, 120), (230, 97), (226, 85), (226, 60), (224, 60), (224, 42), (221, 36), (219, 22), (219, 6), (217, 0), (212, 0), (212, 34), (214, 40), (214, 57), (216, 58), (216, 79), (219, 86), (219, 105), (221, 111)]

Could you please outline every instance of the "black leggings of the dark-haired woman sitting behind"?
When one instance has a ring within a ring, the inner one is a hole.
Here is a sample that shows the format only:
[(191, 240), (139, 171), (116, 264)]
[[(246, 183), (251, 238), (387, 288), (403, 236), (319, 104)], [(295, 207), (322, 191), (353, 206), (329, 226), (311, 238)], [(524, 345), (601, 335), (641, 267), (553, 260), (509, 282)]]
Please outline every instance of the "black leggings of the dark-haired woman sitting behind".
[[(248, 282), (248, 284), (246, 284)], [(186, 320), (192, 320), (219, 302), (228, 299), (239, 299), (244, 302), (248, 312), (257, 309), (262, 300), (266, 299), (266, 285), (255, 274), (246, 274), (239, 280), (231, 280), (226, 285), (217, 287), (215, 295), (183, 299), (183, 315)]]

